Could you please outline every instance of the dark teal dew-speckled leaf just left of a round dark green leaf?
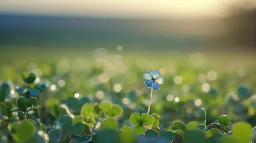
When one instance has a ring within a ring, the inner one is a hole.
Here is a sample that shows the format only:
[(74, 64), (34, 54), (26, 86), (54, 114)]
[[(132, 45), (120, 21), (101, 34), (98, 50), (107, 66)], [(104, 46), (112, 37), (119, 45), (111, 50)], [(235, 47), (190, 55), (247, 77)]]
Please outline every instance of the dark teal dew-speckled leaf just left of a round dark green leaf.
[(68, 115), (62, 115), (60, 116), (58, 123), (57, 123), (57, 129), (61, 129), (63, 132), (67, 132), (69, 127), (72, 126), (72, 119)]

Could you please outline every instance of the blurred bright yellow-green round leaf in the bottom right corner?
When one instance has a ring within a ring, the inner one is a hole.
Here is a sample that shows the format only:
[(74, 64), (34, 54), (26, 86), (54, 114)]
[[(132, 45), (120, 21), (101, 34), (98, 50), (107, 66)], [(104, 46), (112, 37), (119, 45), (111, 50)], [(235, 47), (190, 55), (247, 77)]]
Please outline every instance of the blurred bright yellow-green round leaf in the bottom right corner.
[(232, 133), (240, 143), (249, 143), (251, 141), (252, 127), (246, 122), (239, 122), (232, 126)]

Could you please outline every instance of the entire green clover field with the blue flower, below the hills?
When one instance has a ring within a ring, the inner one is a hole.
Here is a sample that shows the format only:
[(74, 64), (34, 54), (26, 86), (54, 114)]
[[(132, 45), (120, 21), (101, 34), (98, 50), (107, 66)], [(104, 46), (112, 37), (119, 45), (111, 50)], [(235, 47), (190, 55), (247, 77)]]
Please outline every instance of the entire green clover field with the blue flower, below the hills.
[(247, 65), (121, 55), (12, 65), (0, 75), (0, 143), (256, 142), (256, 78)]

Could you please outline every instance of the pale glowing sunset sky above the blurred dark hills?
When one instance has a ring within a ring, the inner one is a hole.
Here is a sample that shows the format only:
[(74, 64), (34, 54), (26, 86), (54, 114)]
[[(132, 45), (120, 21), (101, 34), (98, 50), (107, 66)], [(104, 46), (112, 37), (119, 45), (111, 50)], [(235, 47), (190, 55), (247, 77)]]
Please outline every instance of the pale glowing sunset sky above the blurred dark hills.
[(223, 16), (254, 0), (1, 0), (0, 13), (102, 17)]

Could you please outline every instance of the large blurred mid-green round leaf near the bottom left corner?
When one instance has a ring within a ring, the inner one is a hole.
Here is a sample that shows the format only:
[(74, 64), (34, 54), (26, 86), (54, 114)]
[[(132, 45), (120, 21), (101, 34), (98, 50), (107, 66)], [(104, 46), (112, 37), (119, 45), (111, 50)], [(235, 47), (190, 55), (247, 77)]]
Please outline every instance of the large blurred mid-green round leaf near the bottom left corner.
[(22, 143), (29, 140), (35, 133), (35, 126), (31, 122), (23, 121), (15, 127), (16, 132), (12, 134), (13, 139)]

